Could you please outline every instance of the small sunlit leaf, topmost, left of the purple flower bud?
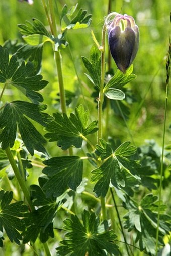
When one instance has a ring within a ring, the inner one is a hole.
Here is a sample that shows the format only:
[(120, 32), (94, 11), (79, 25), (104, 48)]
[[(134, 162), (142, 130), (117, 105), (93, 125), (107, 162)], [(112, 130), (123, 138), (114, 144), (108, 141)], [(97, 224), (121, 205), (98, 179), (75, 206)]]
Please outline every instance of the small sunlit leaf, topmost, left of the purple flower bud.
[(67, 5), (64, 5), (61, 12), (61, 29), (65, 31), (67, 29), (80, 29), (87, 28), (91, 24), (92, 15), (87, 15), (87, 11), (82, 8), (75, 14), (77, 5), (71, 6), (68, 10)]

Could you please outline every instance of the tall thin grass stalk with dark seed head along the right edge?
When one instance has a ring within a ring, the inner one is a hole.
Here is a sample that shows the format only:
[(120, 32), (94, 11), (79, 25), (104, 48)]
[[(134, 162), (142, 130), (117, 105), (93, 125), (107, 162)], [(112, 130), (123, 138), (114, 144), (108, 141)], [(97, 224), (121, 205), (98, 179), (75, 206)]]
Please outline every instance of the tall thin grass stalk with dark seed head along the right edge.
[(161, 153), (161, 168), (160, 168), (160, 183), (159, 183), (159, 203), (158, 203), (158, 217), (157, 217), (157, 231), (156, 231), (156, 248), (155, 255), (158, 252), (158, 238), (159, 238), (159, 224), (160, 224), (160, 205), (161, 205), (161, 190), (162, 190), (162, 176), (163, 176), (163, 159), (164, 159), (164, 144), (165, 144), (165, 130), (166, 130), (166, 117), (167, 117), (167, 102), (168, 102), (168, 84), (170, 76), (170, 60), (171, 60), (171, 41), (169, 40), (168, 58), (166, 61), (166, 89), (165, 89), (165, 108), (164, 108), (164, 127), (162, 139), (162, 153)]

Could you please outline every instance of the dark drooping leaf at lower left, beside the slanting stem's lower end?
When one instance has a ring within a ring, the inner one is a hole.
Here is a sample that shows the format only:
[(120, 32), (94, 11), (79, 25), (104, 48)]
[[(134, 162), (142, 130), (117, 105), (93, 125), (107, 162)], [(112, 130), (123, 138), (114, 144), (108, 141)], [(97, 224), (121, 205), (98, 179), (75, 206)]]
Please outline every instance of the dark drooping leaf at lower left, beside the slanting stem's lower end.
[(60, 202), (57, 203), (54, 197), (46, 198), (38, 185), (31, 185), (31, 197), (36, 209), (25, 214), (24, 222), (27, 228), (22, 232), (23, 243), (34, 243), (38, 236), (40, 241), (45, 243), (49, 236), (54, 237), (53, 219)]

